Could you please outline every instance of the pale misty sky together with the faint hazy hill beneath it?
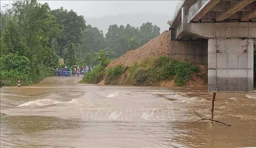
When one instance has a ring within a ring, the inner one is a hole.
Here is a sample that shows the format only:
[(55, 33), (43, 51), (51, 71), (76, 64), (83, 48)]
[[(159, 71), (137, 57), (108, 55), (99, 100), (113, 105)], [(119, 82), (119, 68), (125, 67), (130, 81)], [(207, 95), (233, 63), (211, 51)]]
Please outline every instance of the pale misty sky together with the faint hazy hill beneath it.
[[(92, 24), (107, 33), (110, 24), (139, 27), (145, 21), (150, 21), (161, 28), (161, 32), (168, 29), (167, 21), (172, 18), (178, 1), (82, 1), (82, 0), (38, 0), (40, 3), (48, 3), (51, 9), (64, 7), (74, 10), (78, 15), (85, 17), (86, 24)], [(3, 3), (10, 1), (1, 0)], [(129, 17), (132, 14), (132, 17)], [(135, 14), (135, 15), (134, 15)], [(137, 14), (137, 15), (136, 15)], [(116, 16), (116, 18), (115, 18)], [(151, 17), (152, 16), (152, 17)], [(112, 19), (110, 20), (109, 19)], [(114, 17), (114, 18), (113, 18)], [(100, 21), (100, 19), (104, 21)], [(109, 21), (108, 21), (109, 20)], [(115, 22), (116, 21), (116, 22)], [(102, 23), (102, 24), (100, 24)]]

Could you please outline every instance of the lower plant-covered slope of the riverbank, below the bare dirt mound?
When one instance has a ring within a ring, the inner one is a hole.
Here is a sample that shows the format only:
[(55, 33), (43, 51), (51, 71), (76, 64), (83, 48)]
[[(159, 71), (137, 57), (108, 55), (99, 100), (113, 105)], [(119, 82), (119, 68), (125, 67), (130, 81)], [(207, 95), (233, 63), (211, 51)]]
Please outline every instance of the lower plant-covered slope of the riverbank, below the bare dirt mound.
[(132, 86), (206, 86), (207, 67), (182, 63), (170, 57), (148, 57), (131, 67), (117, 65), (86, 73), (81, 83)]

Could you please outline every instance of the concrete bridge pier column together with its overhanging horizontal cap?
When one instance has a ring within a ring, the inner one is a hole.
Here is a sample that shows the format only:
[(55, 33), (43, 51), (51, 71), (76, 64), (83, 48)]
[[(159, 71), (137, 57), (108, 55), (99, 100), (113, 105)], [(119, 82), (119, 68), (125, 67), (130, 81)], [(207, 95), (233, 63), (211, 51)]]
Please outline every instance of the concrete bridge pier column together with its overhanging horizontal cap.
[(208, 39), (208, 91), (253, 91), (256, 23), (181, 23), (176, 39)]

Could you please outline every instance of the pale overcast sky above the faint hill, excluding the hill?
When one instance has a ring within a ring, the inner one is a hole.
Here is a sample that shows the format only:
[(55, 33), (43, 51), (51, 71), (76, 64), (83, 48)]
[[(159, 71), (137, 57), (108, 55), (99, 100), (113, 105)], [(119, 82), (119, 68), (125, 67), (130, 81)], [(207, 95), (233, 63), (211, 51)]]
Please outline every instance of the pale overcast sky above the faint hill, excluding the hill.
[(49, 3), (51, 9), (64, 7), (73, 9), (79, 15), (87, 18), (100, 18), (107, 15), (118, 15), (120, 13), (157, 13), (171, 14), (176, 7), (177, 1), (82, 1), (82, 0), (38, 0), (40, 3)]

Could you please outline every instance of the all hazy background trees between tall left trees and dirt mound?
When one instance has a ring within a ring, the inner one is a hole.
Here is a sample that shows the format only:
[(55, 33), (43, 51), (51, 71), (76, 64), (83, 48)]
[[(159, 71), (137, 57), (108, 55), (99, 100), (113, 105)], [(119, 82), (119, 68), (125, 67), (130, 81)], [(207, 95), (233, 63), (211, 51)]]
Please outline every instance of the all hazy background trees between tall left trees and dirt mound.
[(117, 24), (110, 25), (105, 37), (101, 30), (87, 25), (81, 32), (81, 43), (78, 44), (76, 56), (82, 57), (88, 64), (97, 64), (92, 60), (95, 52), (112, 51), (110, 58), (116, 58), (129, 50), (142, 46), (159, 34), (160, 28), (149, 22), (137, 28), (129, 24), (126, 27), (117, 26)]

